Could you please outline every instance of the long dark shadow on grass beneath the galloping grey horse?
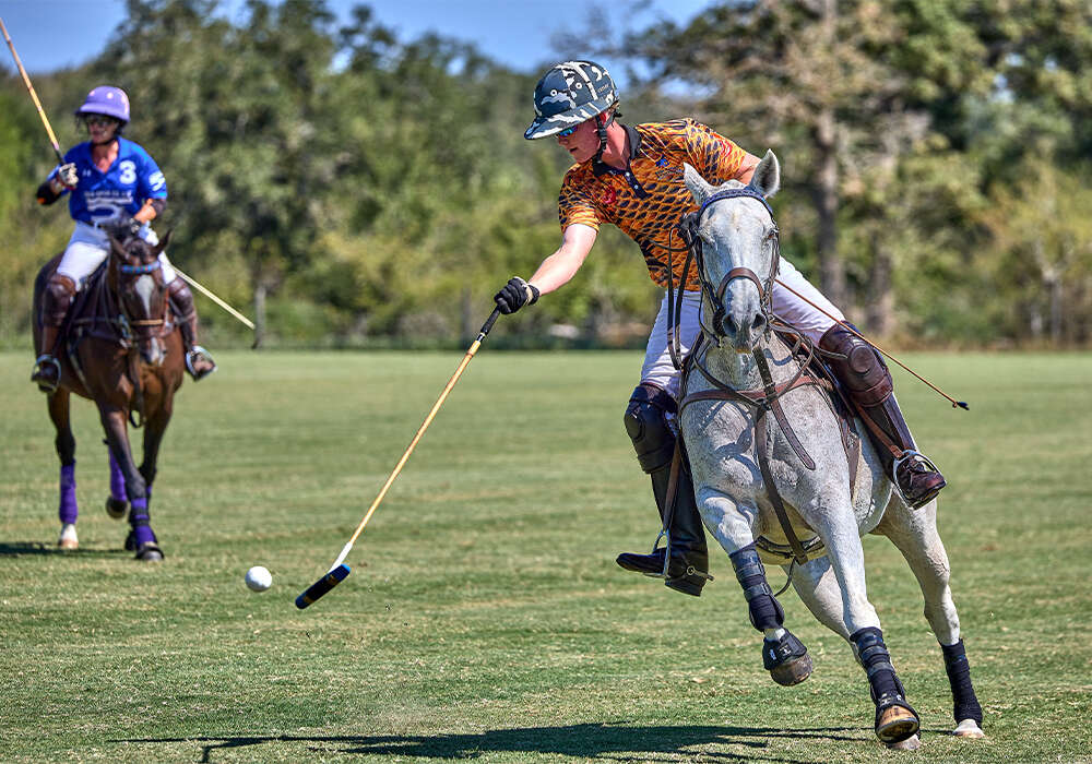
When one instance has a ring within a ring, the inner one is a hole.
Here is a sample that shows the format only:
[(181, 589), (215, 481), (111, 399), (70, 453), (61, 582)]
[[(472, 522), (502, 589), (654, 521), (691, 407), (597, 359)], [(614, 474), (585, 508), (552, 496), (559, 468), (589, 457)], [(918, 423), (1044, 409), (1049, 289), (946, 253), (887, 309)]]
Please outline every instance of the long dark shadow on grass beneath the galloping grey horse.
[[(463, 735), (420, 736), (253, 736), (146, 738), (112, 740), (119, 743), (202, 743), (201, 762), (213, 762), (218, 750), (245, 749), (266, 743), (304, 743), (316, 754), (331, 753), (414, 759), (474, 759), (487, 753), (537, 753), (602, 759), (606, 761), (669, 761), (696, 755), (695, 745), (741, 745), (746, 750), (702, 750), (703, 760), (803, 762), (769, 751), (778, 739), (823, 742), (860, 742), (850, 728), (774, 729), (770, 727), (627, 727), (622, 725), (570, 725), (495, 729)], [(248, 755), (248, 754), (245, 754)], [(249, 755), (260, 757), (257, 750)]]

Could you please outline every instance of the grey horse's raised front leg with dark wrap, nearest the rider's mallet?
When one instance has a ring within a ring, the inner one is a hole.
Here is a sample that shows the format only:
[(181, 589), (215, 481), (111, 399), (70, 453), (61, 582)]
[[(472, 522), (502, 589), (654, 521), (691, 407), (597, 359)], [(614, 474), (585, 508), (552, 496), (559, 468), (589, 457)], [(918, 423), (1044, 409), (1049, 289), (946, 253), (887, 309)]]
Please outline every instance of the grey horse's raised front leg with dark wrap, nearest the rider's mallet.
[(784, 628), (785, 611), (765, 580), (765, 568), (755, 548), (758, 508), (708, 486), (697, 491), (698, 506), (709, 527), (732, 560), (744, 590), (751, 625), (762, 632), (762, 666), (783, 687), (811, 676), (811, 656), (796, 635)]

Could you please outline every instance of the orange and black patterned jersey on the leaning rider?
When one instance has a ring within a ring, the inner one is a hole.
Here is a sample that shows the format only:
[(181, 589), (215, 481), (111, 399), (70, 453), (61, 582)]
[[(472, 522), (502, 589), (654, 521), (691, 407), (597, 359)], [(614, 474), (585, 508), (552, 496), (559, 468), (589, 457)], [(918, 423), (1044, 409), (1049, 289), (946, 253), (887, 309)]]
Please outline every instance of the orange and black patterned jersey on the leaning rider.
[[(596, 230), (604, 223), (615, 224), (640, 246), (652, 280), (666, 287), (668, 242), (673, 249), (682, 247), (673, 230), (685, 214), (697, 210), (682, 182), (682, 163), (717, 186), (736, 178), (747, 153), (692, 119), (622, 127), (629, 134), (628, 169), (592, 162), (571, 167), (558, 199), (561, 229), (574, 223)], [(685, 251), (672, 252), (676, 288), (685, 260)], [(687, 288), (700, 288), (693, 268)]]

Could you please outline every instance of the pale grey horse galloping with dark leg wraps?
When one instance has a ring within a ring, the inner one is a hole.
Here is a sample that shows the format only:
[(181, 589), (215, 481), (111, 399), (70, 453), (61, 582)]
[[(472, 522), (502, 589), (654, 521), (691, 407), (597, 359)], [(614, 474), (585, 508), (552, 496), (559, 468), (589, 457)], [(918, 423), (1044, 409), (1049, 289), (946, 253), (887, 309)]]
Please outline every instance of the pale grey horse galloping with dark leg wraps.
[[(799, 378), (800, 361), (771, 332), (770, 293), (780, 254), (764, 200), (778, 191), (780, 174), (772, 152), (746, 187), (728, 181), (714, 188), (686, 167), (686, 184), (699, 206), (686, 238), (703, 284), (703, 336), (691, 354), (679, 417), (702, 520), (732, 559), (751, 622), (764, 633), (763, 665), (773, 679), (786, 685), (804, 681), (811, 659), (782, 625), (784, 611), (762, 561), (781, 564), (815, 617), (853, 646), (868, 675), (877, 737), (916, 748), (921, 720), (905, 699), (865, 589), (860, 537), (891, 539), (925, 595), (925, 617), (951, 683), (954, 733), (983, 737), (936, 500), (909, 509), (867, 439), (860, 439), (859, 452), (843, 447), (826, 393), (800, 383), (808, 379)], [(859, 418), (856, 429), (864, 432)], [(779, 521), (779, 509), (786, 523)], [(791, 565), (794, 558), (798, 564)]]

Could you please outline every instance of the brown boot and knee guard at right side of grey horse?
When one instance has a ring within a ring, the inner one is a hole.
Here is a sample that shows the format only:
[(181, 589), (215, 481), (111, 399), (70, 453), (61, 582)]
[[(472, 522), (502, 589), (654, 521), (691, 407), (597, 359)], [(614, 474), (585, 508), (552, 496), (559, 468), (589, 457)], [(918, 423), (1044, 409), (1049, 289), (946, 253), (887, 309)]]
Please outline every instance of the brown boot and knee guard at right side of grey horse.
[(824, 359), (865, 421), (868, 437), (888, 476), (913, 509), (936, 498), (945, 476), (917, 451), (894, 397), (894, 383), (879, 353), (845, 327), (834, 324), (819, 339)]

